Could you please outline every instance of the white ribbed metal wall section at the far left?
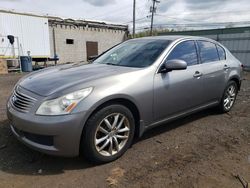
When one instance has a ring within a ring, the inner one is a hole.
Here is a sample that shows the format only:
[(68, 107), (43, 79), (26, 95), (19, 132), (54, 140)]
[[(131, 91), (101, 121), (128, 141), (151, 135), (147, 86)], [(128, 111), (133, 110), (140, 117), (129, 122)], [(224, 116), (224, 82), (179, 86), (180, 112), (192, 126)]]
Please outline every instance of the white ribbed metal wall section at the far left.
[[(50, 57), (48, 18), (0, 10), (0, 58)], [(7, 36), (15, 37), (13, 46)]]

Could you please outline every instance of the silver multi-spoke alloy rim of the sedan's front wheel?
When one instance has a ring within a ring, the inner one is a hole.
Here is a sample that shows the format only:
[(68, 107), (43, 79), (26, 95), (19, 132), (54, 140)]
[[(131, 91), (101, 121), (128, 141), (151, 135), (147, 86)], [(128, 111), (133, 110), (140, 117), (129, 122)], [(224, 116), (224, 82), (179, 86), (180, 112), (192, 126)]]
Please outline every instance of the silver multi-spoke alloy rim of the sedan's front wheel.
[(103, 156), (118, 153), (127, 143), (130, 133), (128, 119), (120, 113), (106, 116), (95, 133), (96, 150)]

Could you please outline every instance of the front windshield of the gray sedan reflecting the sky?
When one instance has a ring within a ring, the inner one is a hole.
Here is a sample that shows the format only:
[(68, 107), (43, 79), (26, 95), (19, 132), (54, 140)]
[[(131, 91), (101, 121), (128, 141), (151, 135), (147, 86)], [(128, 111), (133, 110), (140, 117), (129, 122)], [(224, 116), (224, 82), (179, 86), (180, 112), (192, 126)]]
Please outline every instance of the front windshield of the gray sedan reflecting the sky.
[(107, 51), (94, 63), (147, 67), (154, 63), (170, 42), (169, 40), (159, 39), (130, 40)]

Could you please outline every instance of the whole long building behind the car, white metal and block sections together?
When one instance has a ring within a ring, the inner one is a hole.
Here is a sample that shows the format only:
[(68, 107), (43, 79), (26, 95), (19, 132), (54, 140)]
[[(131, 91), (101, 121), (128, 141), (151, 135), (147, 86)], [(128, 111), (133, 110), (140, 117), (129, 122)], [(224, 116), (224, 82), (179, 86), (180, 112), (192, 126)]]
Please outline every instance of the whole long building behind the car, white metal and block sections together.
[[(13, 46), (8, 35), (15, 37)], [(127, 25), (0, 10), (0, 59), (30, 53), (34, 61), (85, 62), (127, 35)]]

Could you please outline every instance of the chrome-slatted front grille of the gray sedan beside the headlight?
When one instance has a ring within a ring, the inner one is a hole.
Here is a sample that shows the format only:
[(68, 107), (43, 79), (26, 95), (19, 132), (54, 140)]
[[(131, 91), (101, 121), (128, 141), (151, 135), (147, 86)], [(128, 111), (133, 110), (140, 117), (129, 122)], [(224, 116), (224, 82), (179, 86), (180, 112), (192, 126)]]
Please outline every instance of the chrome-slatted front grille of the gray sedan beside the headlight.
[(28, 112), (30, 108), (35, 104), (36, 99), (21, 93), (18, 88), (13, 92), (10, 99), (12, 105), (19, 111)]

